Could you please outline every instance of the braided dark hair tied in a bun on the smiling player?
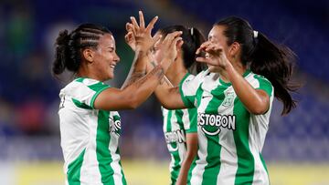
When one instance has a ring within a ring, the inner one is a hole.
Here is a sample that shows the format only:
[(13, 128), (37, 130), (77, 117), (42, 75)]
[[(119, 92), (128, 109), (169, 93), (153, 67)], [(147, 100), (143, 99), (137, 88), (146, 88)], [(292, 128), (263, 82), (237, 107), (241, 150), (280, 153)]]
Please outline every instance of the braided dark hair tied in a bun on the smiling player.
[(83, 24), (71, 33), (68, 30), (59, 32), (56, 39), (56, 53), (52, 72), (55, 76), (64, 72), (65, 68), (76, 73), (81, 63), (81, 52), (85, 48), (97, 49), (98, 41), (104, 34), (111, 32), (93, 24)]

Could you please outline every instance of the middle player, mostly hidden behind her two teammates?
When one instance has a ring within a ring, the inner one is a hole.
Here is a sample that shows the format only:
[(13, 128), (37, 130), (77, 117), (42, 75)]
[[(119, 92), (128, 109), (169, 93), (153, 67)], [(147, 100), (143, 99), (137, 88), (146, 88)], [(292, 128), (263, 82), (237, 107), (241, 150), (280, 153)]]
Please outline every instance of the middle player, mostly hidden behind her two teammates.
[[(125, 38), (127, 44), (134, 49), (132, 27), (132, 24), (127, 24), (128, 33)], [(201, 63), (196, 63), (196, 49), (205, 42), (205, 37), (196, 28), (187, 29), (185, 26), (167, 26), (160, 29), (155, 36), (165, 37), (175, 31), (182, 32), (184, 44), (178, 48), (175, 61), (165, 73), (169, 82), (164, 82), (169, 86), (178, 87), (195, 77), (191, 73), (198, 73), (204, 68)], [(161, 45), (161, 40), (155, 43), (150, 57), (159, 55)], [(196, 108), (176, 110), (162, 108), (162, 111), (164, 139), (171, 155), (171, 184), (186, 184), (187, 173), (197, 151)]]

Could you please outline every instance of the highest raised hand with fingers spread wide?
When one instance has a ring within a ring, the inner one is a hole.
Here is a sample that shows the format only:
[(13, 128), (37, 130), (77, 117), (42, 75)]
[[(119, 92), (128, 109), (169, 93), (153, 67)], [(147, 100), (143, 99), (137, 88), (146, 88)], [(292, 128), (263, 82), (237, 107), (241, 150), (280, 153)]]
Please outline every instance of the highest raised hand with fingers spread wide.
[(125, 36), (126, 42), (135, 51), (147, 53), (149, 49), (154, 46), (154, 43), (160, 39), (160, 35), (151, 36), (154, 24), (158, 16), (155, 16), (152, 21), (145, 27), (143, 12), (139, 11), (140, 24), (138, 25), (135, 17), (131, 16), (131, 23), (127, 23), (127, 35)]

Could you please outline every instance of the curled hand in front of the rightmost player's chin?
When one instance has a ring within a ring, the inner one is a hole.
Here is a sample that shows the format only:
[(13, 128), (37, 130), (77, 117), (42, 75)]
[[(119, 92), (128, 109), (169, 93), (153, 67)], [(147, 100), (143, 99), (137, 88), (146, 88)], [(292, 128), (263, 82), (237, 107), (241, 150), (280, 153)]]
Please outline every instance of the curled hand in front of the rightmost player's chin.
[(202, 51), (206, 52), (206, 56), (196, 57), (196, 61), (204, 62), (207, 63), (207, 65), (220, 67), (222, 69), (228, 66), (229, 61), (222, 46), (207, 41), (196, 50), (196, 55), (200, 54)]

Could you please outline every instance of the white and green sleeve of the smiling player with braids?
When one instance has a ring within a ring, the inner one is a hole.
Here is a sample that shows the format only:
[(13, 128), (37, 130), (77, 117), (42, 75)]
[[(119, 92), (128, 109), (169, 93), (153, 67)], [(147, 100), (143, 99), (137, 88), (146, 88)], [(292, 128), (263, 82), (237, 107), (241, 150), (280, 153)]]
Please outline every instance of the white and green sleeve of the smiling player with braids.
[(76, 86), (71, 90), (73, 103), (79, 108), (94, 109), (94, 102), (100, 93), (110, 86), (88, 78), (76, 80)]

